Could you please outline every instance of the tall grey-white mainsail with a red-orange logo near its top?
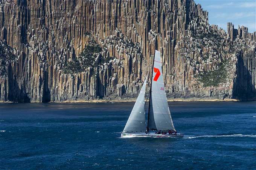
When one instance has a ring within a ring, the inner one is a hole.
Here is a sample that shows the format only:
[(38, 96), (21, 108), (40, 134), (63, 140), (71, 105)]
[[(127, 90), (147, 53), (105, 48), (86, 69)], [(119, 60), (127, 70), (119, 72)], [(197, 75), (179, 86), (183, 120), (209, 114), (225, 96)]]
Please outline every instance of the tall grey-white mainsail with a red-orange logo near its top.
[[(160, 57), (160, 52), (155, 50), (155, 60), (153, 67), (153, 77), (151, 80), (151, 106), (149, 112), (149, 129), (158, 129), (158, 130), (175, 130), (171, 113), (169, 110), (165, 85), (163, 83), (163, 72), (162, 72), (162, 61)], [(152, 112), (154, 115), (155, 128), (153, 127)]]

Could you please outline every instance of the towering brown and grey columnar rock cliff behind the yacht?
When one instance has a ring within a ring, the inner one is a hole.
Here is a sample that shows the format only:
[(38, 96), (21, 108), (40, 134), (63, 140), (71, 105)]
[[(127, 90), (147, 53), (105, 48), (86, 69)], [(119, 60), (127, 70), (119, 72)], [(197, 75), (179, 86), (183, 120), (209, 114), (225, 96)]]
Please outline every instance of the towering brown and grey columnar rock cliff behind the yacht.
[(155, 49), (169, 98), (256, 98), (256, 32), (193, 0), (0, 0), (0, 26), (0, 101), (134, 98)]

